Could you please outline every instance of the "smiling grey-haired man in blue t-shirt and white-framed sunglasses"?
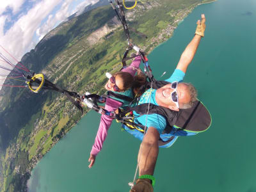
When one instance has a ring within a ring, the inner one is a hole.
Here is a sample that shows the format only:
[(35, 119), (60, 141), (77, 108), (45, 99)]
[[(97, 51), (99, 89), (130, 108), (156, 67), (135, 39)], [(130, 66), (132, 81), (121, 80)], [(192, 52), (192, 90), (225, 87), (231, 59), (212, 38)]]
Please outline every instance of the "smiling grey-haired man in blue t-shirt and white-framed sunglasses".
[[(154, 177), (152, 175), (154, 174), (159, 151), (159, 139), (164, 140), (165, 136), (166, 138), (173, 137), (172, 144), (178, 136), (196, 134), (196, 132), (186, 132), (185, 130), (175, 129), (175, 127), (172, 127), (172, 131), (168, 132), (168, 135), (164, 134), (166, 125), (172, 125), (172, 120), (176, 118), (176, 114), (179, 110), (191, 108), (197, 100), (194, 86), (190, 83), (180, 83), (185, 76), (189, 63), (191, 63), (195, 56), (202, 36), (204, 36), (204, 14), (202, 14), (202, 19), (198, 20), (196, 24), (195, 36), (182, 53), (172, 76), (165, 81), (158, 81), (152, 84), (152, 88), (148, 88), (148, 90), (141, 95), (138, 102), (138, 106), (143, 106), (143, 104), (144, 106), (148, 106), (148, 103), (150, 103), (156, 106), (156, 110), (161, 108), (163, 112), (155, 113), (154, 109), (151, 108), (148, 115), (146, 115), (145, 107), (143, 108), (144, 113), (140, 113), (140, 109), (133, 111), (134, 122), (148, 127), (145, 134), (137, 129), (132, 130), (129, 127), (124, 127), (126, 131), (142, 140), (138, 154), (140, 177), (135, 186), (131, 189), (132, 192), (153, 191)], [(177, 118), (175, 120), (177, 120)], [(170, 143), (168, 147), (170, 147)]]

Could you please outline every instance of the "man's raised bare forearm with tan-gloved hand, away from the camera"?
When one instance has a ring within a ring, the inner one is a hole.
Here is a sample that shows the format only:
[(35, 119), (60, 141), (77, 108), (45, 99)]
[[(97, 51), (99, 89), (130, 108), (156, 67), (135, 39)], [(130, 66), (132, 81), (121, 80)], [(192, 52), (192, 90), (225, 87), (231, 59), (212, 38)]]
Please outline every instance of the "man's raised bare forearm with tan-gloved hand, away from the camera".
[(186, 73), (186, 70), (188, 68), (188, 65), (193, 60), (196, 49), (200, 43), (200, 40), (202, 36), (204, 36), (204, 30), (205, 30), (205, 16), (202, 14), (202, 19), (198, 20), (196, 22), (197, 28), (196, 33), (191, 42), (188, 44), (184, 52), (182, 52), (182, 55), (180, 56), (179, 63), (176, 68), (182, 70), (184, 73)]

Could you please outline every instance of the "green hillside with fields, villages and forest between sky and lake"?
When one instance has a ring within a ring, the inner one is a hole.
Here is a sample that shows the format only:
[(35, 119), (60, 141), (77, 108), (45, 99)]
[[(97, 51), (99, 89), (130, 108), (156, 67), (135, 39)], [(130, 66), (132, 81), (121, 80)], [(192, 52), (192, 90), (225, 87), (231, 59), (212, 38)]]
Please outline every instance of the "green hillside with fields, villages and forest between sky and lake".
[[(148, 38), (131, 32), (133, 42), (146, 52), (152, 51), (172, 36), (179, 21), (198, 3), (202, 0), (138, 3), (127, 11), (128, 23)], [(67, 90), (104, 93), (104, 74), (120, 69), (126, 46), (122, 26), (108, 5), (60, 24), (21, 62)], [(51, 91), (35, 94), (4, 87), (0, 96), (0, 189), (26, 191), (32, 168), (79, 121), (81, 113), (63, 95)]]

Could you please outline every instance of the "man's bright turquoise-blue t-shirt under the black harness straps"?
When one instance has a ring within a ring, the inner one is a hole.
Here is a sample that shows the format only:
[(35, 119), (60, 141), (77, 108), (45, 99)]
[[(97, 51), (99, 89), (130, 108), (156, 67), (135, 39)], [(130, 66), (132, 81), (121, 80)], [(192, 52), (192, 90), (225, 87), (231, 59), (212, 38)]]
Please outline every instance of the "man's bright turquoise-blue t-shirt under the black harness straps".
[[(185, 73), (182, 72), (182, 70), (175, 69), (172, 76), (164, 81), (168, 81), (170, 83), (172, 83), (173, 81), (181, 82), (184, 79), (184, 76)], [(157, 104), (156, 102), (156, 90), (150, 88), (146, 92), (144, 92), (143, 95), (141, 95), (138, 105), (143, 103), (152, 103), (159, 106), (159, 104)], [(155, 127), (159, 134), (161, 134), (166, 127), (166, 120), (161, 115), (150, 114), (140, 116), (138, 113), (136, 113), (136, 111), (133, 111), (133, 114), (134, 122), (140, 123), (142, 125), (147, 125), (147, 127)]]

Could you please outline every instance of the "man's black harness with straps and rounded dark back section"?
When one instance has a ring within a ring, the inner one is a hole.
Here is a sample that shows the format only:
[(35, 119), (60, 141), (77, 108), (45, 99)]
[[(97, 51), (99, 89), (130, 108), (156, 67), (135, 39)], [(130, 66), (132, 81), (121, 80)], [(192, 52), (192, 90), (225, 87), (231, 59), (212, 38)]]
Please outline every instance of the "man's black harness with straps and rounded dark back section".
[[(166, 84), (169, 84), (169, 82), (154, 81), (152, 88), (158, 89)], [(148, 89), (148, 85), (148, 83), (145, 84), (145, 90)], [(119, 114), (119, 118), (117, 118), (117, 120), (129, 127), (129, 129), (136, 129), (143, 133), (145, 126), (134, 122), (134, 115), (132, 111), (136, 111), (136, 113), (142, 116), (147, 114), (147, 109), (147, 103), (140, 104), (134, 108), (127, 108)], [(196, 100), (191, 108), (180, 109), (179, 111), (172, 111), (171, 109), (164, 108), (162, 106), (150, 104), (148, 114), (158, 114), (165, 118), (166, 127), (163, 134), (170, 133), (173, 127), (184, 131), (203, 132), (211, 125), (211, 115), (200, 100)]]

